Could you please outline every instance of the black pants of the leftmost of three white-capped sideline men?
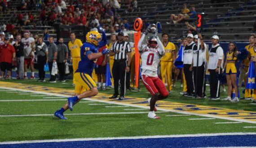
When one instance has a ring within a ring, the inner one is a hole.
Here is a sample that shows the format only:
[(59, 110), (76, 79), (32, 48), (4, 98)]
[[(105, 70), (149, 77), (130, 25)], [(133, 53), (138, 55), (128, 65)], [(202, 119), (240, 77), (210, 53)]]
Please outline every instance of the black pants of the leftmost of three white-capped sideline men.
[(184, 74), (187, 83), (187, 93), (193, 94), (194, 83), (193, 83), (193, 71), (190, 71), (191, 64), (184, 64)]

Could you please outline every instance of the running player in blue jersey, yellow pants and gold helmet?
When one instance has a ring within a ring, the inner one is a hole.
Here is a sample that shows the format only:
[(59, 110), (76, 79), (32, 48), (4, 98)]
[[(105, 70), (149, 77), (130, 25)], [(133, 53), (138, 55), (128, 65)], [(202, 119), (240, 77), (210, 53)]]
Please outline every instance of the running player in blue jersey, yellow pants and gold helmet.
[[(92, 78), (93, 69), (97, 58), (109, 53), (108, 49), (98, 52), (98, 48), (106, 45), (106, 35), (104, 30), (102, 30), (102, 37), (103, 39), (101, 41), (101, 35), (97, 31), (90, 31), (86, 35), (86, 43), (84, 43), (80, 49), (81, 61), (79, 61), (78, 69), (74, 74), (76, 81), (75, 93), (79, 95), (68, 98), (68, 102), (54, 113), (54, 116), (57, 118), (67, 119), (63, 115), (67, 109), (72, 111), (73, 106), (78, 103), (79, 100), (98, 94), (97, 85)], [(82, 91), (83, 88), (85, 88), (86, 91), (77, 93)]]

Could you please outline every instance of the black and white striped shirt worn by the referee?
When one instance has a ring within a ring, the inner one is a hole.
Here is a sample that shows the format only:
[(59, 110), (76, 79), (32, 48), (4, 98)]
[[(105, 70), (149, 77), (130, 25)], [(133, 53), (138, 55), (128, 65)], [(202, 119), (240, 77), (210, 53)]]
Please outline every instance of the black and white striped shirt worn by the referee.
[(118, 52), (118, 53), (115, 53), (114, 59), (115, 59), (115, 60), (126, 60), (126, 58), (127, 58), (127, 57), (126, 57), (126, 54), (127, 54), (128, 52), (131, 52), (130, 44), (129, 44), (128, 42), (125, 42), (125, 41), (123, 41), (123, 42), (121, 42), (121, 43), (119, 43), (118, 41), (116, 41), (116, 42), (112, 45), (110, 51), (115, 52), (115, 51), (117, 51), (117, 50), (119, 50), (119, 52)]

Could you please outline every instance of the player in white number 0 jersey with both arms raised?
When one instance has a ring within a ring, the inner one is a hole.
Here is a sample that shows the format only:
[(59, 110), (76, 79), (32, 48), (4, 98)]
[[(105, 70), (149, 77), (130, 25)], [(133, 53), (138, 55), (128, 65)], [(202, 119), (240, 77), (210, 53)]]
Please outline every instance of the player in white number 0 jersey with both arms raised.
[(142, 44), (145, 38), (143, 33), (138, 43), (139, 52), (141, 54), (141, 78), (146, 89), (151, 93), (152, 97), (148, 99), (150, 103), (150, 112), (148, 118), (160, 119), (154, 112), (155, 102), (168, 97), (168, 91), (162, 80), (157, 75), (157, 66), (160, 58), (165, 54), (163, 44), (159, 37), (155, 34), (147, 39), (147, 44)]

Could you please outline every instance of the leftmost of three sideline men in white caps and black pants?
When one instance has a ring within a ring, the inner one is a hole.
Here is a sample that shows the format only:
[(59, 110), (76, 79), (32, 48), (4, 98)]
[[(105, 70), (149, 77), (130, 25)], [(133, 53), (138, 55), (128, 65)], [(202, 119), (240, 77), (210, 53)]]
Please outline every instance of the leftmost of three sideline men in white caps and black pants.
[(184, 74), (185, 74), (185, 80), (187, 83), (187, 94), (184, 96), (193, 96), (194, 91), (194, 82), (193, 82), (193, 41), (194, 35), (188, 34), (187, 40), (188, 44), (184, 48), (184, 58), (183, 58), (183, 64), (184, 64)]

